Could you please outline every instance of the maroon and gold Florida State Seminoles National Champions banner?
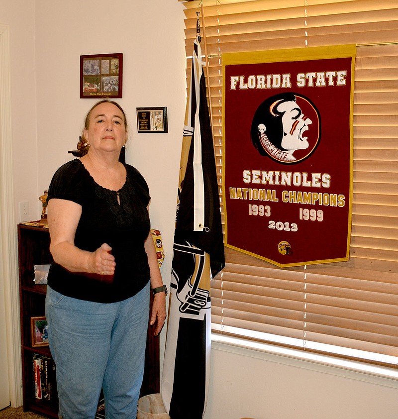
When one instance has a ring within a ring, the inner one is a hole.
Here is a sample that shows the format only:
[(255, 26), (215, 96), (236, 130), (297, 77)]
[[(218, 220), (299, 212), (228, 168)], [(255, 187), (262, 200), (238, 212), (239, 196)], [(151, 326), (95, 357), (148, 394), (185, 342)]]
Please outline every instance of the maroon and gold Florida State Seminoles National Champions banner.
[(348, 260), (354, 58), (223, 54), (226, 246), (280, 267)]

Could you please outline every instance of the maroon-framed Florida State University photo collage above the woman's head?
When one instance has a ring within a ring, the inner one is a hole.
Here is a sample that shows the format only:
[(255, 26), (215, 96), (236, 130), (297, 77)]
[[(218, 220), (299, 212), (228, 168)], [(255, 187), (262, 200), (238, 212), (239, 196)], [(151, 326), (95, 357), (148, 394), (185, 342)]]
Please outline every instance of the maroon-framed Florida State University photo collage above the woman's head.
[(80, 56), (80, 98), (122, 98), (123, 54)]

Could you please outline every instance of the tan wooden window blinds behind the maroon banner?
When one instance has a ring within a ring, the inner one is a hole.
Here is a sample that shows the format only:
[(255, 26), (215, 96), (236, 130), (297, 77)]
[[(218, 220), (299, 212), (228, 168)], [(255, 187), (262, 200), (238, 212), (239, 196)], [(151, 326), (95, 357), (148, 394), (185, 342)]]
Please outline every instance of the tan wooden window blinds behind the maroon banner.
[(192, 54), (196, 12), (203, 11), (221, 204), (221, 54), (357, 45), (349, 262), (281, 269), (225, 248), (226, 267), (212, 281), (213, 331), (397, 367), (397, 2), (204, 0), (184, 4), (187, 56)]

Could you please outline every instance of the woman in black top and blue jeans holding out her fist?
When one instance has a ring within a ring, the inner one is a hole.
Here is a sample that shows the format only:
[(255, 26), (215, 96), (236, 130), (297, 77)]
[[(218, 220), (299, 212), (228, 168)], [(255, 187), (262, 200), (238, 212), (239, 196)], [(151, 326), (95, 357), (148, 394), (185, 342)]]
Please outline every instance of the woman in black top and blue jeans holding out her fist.
[(136, 418), (150, 287), (155, 335), (166, 318), (149, 190), (135, 168), (119, 162), (127, 122), (117, 103), (94, 105), (83, 135), (87, 154), (61, 166), (48, 190), (54, 263), (46, 318), (59, 416), (94, 418), (102, 388), (106, 418)]

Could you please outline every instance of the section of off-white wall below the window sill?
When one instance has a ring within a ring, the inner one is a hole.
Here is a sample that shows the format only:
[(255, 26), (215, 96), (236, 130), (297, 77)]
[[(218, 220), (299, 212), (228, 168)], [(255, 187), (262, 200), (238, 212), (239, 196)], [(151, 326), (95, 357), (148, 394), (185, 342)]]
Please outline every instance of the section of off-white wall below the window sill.
[(204, 419), (397, 418), (396, 380), (221, 343), (211, 360)]

